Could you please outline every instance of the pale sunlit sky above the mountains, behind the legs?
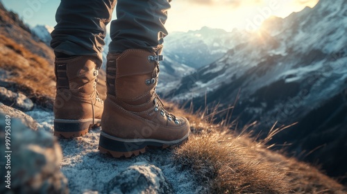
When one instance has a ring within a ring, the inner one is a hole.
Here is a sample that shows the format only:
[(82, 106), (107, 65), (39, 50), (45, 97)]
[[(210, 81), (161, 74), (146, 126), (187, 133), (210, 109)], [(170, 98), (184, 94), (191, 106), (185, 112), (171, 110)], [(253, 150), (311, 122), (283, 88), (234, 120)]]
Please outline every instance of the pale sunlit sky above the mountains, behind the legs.
[[(29, 26), (55, 26), (59, 0), (0, 0), (17, 12)], [(73, 0), (71, 0), (73, 1)], [(83, 1), (83, 0), (80, 0)], [(233, 28), (258, 28), (264, 19), (274, 15), (287, 17), (291, 12), (313, 7), (319, 0), (173, 0), (167, 30), (198, 30), (203, 26), (231, 31)], [(115, 12), (112, 19), (116, 19)], [(250, 27), (251, 26), (251, 27)], [(109, 27), (109, 26), (108, 26)]]

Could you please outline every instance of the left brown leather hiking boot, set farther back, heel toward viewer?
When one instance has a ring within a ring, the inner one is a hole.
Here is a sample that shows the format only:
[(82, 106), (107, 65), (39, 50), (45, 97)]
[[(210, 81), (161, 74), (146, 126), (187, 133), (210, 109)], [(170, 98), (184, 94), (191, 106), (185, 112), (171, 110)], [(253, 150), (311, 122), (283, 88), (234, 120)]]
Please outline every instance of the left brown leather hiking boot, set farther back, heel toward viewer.
[(56, 59), (54, 135), (71, 138), (100, 126), (103, 101), (96, 91), (101, 61), (93, 56)]

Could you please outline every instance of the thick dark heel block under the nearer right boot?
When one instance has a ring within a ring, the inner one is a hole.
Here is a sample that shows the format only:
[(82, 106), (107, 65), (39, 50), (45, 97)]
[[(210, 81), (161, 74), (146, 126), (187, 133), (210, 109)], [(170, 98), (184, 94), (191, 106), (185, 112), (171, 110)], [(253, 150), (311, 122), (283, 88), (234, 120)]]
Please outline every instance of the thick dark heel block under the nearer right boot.
[(126, 142), (121, 139), (110, 139), (107, 134), (101, 132), (99, 150), (103, 154), (110, 154), (112, 157), (132, 157), (146, 152), (147, 143), (145, 141)]

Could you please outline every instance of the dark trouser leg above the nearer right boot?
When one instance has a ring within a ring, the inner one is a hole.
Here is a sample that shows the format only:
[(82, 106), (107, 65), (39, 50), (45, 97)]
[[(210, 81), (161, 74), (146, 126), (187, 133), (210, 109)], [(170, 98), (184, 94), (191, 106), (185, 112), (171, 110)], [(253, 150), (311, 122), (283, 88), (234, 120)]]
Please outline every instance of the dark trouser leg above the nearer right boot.
[(111, 22), (110, 53), (128, 48), (153, 51), (167, 35), (168, 0), (118, 0), (117, 19)]

